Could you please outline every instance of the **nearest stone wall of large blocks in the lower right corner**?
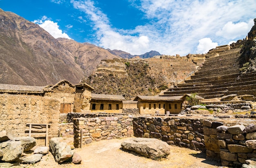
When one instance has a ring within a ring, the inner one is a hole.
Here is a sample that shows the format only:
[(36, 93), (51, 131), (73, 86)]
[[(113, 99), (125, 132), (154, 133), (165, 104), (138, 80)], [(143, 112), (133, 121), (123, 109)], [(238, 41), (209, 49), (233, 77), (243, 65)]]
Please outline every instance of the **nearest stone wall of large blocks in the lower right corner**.
[(244, 167), (247, 159), (256, 158), (255, 123), (249, 119), (235, 123), (203, 120), (207, 157), (221, 159), (222, 166)]

